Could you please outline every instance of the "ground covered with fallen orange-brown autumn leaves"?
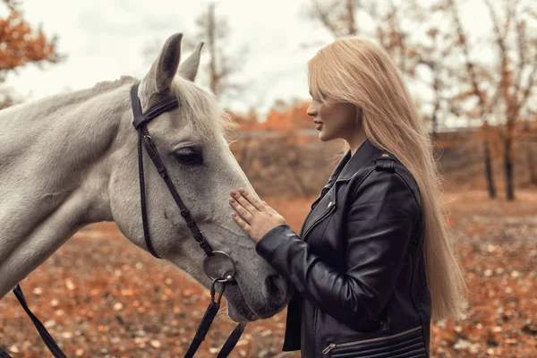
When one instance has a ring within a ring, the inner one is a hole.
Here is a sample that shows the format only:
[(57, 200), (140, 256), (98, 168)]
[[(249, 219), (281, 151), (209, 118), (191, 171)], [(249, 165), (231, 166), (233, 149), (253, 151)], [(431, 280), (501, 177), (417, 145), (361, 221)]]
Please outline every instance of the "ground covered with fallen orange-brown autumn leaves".
[[(433, 322), (432, 356), (537, 356), (537, 192), (517, 196), (507, 202), (462, 192), (443, 199), (471, 314)], [(311, 201), (268, 200), (296, 230)], [(209, 303), (205, 289), (112, 224), (75, 234), (21, 286), (70, 357), (183, 356)], [(298, 357), (281, 353), (285, 318), (282, 311), (249, 324), (232, 356)], [(218, 316), (197, 356), (216, 356), (233, 328), (225, 314)], [(0, 302), (0, 345), (14, 357), (50, 356), (13, 294)]]

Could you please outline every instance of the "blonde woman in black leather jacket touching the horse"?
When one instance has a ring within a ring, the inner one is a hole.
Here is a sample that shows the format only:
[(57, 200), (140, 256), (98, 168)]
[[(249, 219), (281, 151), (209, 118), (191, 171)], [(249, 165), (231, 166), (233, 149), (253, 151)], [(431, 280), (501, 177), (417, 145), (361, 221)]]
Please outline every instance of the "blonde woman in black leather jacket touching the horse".
[(371, 41), (339, 38), (308, 71), (320, 141), (343, 139), (349, 149), (301, 234), (251, 192), (229, 200), (258, 253), (294, 285), (283, 349), (307, 358), (428, 357), (430, 320), (465, 315), (429, 133)]

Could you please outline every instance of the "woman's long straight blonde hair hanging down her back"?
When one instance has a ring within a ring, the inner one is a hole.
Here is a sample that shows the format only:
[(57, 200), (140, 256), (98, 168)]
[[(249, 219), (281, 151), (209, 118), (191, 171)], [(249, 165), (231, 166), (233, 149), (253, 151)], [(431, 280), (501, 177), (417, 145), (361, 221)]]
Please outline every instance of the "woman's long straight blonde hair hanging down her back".
[(363, 38), (338, 38), (308, 62), (308, 72), (314, 98), (353, 103), (371, 143), (394, 154), (412, 173), (422, 197), (432, 319), (465, 318), (465, 279), (439, 204), (441, 177), (430, 135), (388, 53)]

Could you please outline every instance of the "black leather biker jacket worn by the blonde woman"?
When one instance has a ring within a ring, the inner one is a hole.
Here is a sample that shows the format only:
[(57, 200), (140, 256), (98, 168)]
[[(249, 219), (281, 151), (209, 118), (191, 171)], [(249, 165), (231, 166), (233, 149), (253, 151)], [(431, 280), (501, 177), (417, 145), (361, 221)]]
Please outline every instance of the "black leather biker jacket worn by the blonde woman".
[(295, 293), (284, 351), (303, 357), (428, 357), (430, 294), (421, 198), (392, 154), (364, 141), (311, 206), (302, 232), (277, 226), (256, 246)]

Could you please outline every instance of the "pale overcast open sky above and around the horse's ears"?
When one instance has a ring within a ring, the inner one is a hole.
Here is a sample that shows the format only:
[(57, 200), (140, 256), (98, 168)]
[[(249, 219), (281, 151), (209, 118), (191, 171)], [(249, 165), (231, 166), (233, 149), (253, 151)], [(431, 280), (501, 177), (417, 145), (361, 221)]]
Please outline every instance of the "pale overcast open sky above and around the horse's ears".
[[(306, 62), (332, 38), (301, 16), (307, 2), (215, 1), (217, 15), (225, 16), (231, 28), (230, 50), (248, 49), (237, 78), (247, 90), (229, 107), (237, 111), (255, 107), (263, 114), (277, 98), (309, 98)], [(57, 35), (57, 50), (67, 59), (47, 65), (44, 71), (26, 66), (10, 74), (6, 85), (37, 99), (123, 74), (141, 78), (149, 69), (143, 47), (165, 41), (175, 32), (183, 32), (185, 39), (192, 37), (194, 20), (208, 4), (205, 0), (24, 0), (24, 18), (34, 27), (42, 24), (48, 36)], [(471, 26), (484, 26), (478, 16), (482, 8), (469, 10), (464, 15), (473, 18), (468, 21)]]

